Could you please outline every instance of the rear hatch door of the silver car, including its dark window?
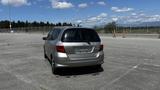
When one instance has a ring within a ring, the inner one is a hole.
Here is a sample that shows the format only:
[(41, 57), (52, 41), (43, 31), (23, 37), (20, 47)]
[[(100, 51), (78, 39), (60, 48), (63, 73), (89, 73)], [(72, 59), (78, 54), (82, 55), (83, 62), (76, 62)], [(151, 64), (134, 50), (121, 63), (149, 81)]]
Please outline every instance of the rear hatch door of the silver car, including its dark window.
[(67, 29), (62, 42), (70, 60), (95, 59), (100, 49), (100, 38), (92, 29)]

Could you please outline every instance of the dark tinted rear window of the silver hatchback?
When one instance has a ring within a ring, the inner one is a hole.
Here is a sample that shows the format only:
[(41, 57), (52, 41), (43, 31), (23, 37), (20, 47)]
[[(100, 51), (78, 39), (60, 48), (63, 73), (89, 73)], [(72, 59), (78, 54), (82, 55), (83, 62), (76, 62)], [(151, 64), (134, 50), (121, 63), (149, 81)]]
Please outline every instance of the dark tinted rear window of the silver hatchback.
[(67, 29), (62, 35), (62, 42), (100, 42), (100, 38), (92, 29)]

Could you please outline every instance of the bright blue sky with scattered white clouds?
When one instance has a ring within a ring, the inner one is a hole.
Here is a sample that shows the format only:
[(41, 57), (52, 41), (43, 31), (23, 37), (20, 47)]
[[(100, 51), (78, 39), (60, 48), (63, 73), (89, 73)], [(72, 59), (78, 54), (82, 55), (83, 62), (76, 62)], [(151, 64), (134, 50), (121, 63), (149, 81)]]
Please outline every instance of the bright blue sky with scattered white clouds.
[(101, 25), (111, 21), (160, 21), (160, 0), (0, 0), (0, 20), (72, 22)]

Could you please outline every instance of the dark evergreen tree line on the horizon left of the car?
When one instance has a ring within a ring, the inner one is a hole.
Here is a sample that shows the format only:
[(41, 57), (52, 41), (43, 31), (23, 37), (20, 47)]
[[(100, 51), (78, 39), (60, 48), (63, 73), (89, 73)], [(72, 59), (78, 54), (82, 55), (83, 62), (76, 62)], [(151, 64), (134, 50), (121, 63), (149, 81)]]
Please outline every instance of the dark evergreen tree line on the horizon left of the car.
[(11, 23), (12, 28), (18, 28), (18, 27), (43, 27), (43, 26), (79, 26), (72, 23), (67, 22), (58, 22), (58, 23), (50, 23), (50, 22), (38, 22), (38, 21), (8, 21), (8, 20), (2, 20), (0, 21), (0, 28), (9, 28), (9, 25)]

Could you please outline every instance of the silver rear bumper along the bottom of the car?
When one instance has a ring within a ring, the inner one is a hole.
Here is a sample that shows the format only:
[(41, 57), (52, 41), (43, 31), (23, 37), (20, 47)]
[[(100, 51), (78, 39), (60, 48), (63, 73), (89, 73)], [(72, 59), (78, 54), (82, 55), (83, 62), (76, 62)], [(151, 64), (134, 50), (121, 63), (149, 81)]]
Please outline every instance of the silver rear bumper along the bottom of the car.
[(101, 65), (104, 63), (103, 59), (104, 59), (104, 55), (101, 55), (98, 58), (94, 58), (94, 59), (56, 60), (55, 66), (57, 68), (62, 68), (62, 67), (83, 67), (83, 66)]

